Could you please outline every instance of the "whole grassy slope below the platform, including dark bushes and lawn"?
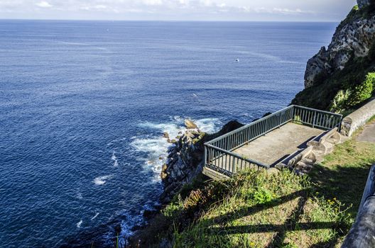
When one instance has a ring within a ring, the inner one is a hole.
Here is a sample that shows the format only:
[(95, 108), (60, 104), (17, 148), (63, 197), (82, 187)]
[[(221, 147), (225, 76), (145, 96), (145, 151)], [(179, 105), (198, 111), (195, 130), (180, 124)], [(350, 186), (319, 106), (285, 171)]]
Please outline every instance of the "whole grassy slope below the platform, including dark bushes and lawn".
[(245, 171), (185, 186), (153, 224), (155, 244), (164, 238), (173, 247), (339, 247), (375, 163), (375, 144), (356, 135), (306, 176)]

